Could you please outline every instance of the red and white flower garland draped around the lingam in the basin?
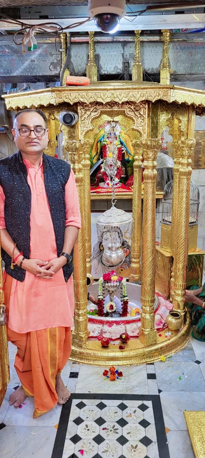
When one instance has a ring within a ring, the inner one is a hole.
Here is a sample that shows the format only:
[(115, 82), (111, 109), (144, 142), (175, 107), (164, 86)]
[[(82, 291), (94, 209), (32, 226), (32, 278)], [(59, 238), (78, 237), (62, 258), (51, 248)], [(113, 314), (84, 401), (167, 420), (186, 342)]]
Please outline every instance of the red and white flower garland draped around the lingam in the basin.
[[(126, 280), (123, 277), (119, 277), (116, 275), (115, 271), (112, 270), (111, 272), (104, 273), (103, 277), (99, 279), (99, 286), (98, 286), (98, 296), (97, 296), (97, 314), (98, 316), (104, 316), (104, 304), (105, 304), (105, 283), (107, 282), (119, 282), (120, 283), (120, 299), (122, 305), (122, 312), (121, 316), (128, 315), (128, 303), (129, 298), (127, 295), (127, 287), (126, 287)], [(116, 310), (116, 305), (113, 302), (108, 302), (106, 305), (106, 310), (108, 313), (112, 313)]]

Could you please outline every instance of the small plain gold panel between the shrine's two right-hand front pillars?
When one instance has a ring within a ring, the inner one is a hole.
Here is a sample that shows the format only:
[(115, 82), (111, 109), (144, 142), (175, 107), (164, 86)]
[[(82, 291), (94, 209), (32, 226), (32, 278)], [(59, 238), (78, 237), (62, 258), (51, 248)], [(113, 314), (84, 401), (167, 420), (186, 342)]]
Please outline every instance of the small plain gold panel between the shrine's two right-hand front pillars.
[(155, 289), (169, 299), (172, 256), (156, 246)]

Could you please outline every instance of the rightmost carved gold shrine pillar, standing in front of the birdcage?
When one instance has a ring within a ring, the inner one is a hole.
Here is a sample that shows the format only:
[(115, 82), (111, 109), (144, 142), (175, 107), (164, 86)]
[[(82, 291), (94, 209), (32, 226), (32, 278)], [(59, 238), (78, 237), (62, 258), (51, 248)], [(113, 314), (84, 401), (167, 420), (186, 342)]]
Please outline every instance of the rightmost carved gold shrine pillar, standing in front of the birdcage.
[(191, 158), (194, 150), (195, 140), (181, 140), (178, 142), (180, 148), (180, 168), (178, 185), (178, 212), (176, 230), (176, 252), (174, 270), (174, 293), (173, 307), (179, 309), (185, 321), (185, 287), (186, 287), (186, 266), (188, 259), (188, 234), (189, 234), (189, 206), (190, 206), (190, 180), (191, 180)]

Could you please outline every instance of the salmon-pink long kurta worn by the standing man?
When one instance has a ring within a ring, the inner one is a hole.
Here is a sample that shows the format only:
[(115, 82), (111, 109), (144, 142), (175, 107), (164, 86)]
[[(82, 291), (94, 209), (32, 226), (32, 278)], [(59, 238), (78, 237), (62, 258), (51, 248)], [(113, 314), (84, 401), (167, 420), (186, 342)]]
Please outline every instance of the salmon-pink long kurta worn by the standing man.
[[(57, 255), (53, 221), (47, 201), (43, 165), (36, 169), (30, 161), (27, 181), (31, 189), (30, 257), (50, 261)], [(5, 228), (5, 195), (0, 186), (0, 229)], [(72, 170), (65, 185), (65, 226), (81, 228), (75, 178)], [(15, 241), (15, 240), (14, 240)], [(52, 280), (39, 278), (26, 272), (24, 282), (13, 279), (10, 299), (9, 327), (17, 333), (27, 333), (48, 327), (70, 327), (74, 315), (73, 278), (65, 283), (63, 269)]]

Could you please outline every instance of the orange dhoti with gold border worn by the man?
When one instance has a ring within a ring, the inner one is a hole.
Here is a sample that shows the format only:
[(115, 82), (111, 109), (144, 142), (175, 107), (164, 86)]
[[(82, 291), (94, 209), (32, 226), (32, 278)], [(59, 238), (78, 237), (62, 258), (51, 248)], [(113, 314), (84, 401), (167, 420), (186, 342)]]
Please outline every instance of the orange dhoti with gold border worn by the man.
[[(9, 313), (12, 278), (4, 284), (6, 313)], [(40, 313), (40, 307), (39, 307)], [(34, 397), (33, 418), (45, 414), (58, 402), (55, 378), (70, 357), (70, 327), (51, 327), (29, 333), (16, 333), (7, 327), (7, 338), (17, 347), (14, 367), (25, 394)]]

